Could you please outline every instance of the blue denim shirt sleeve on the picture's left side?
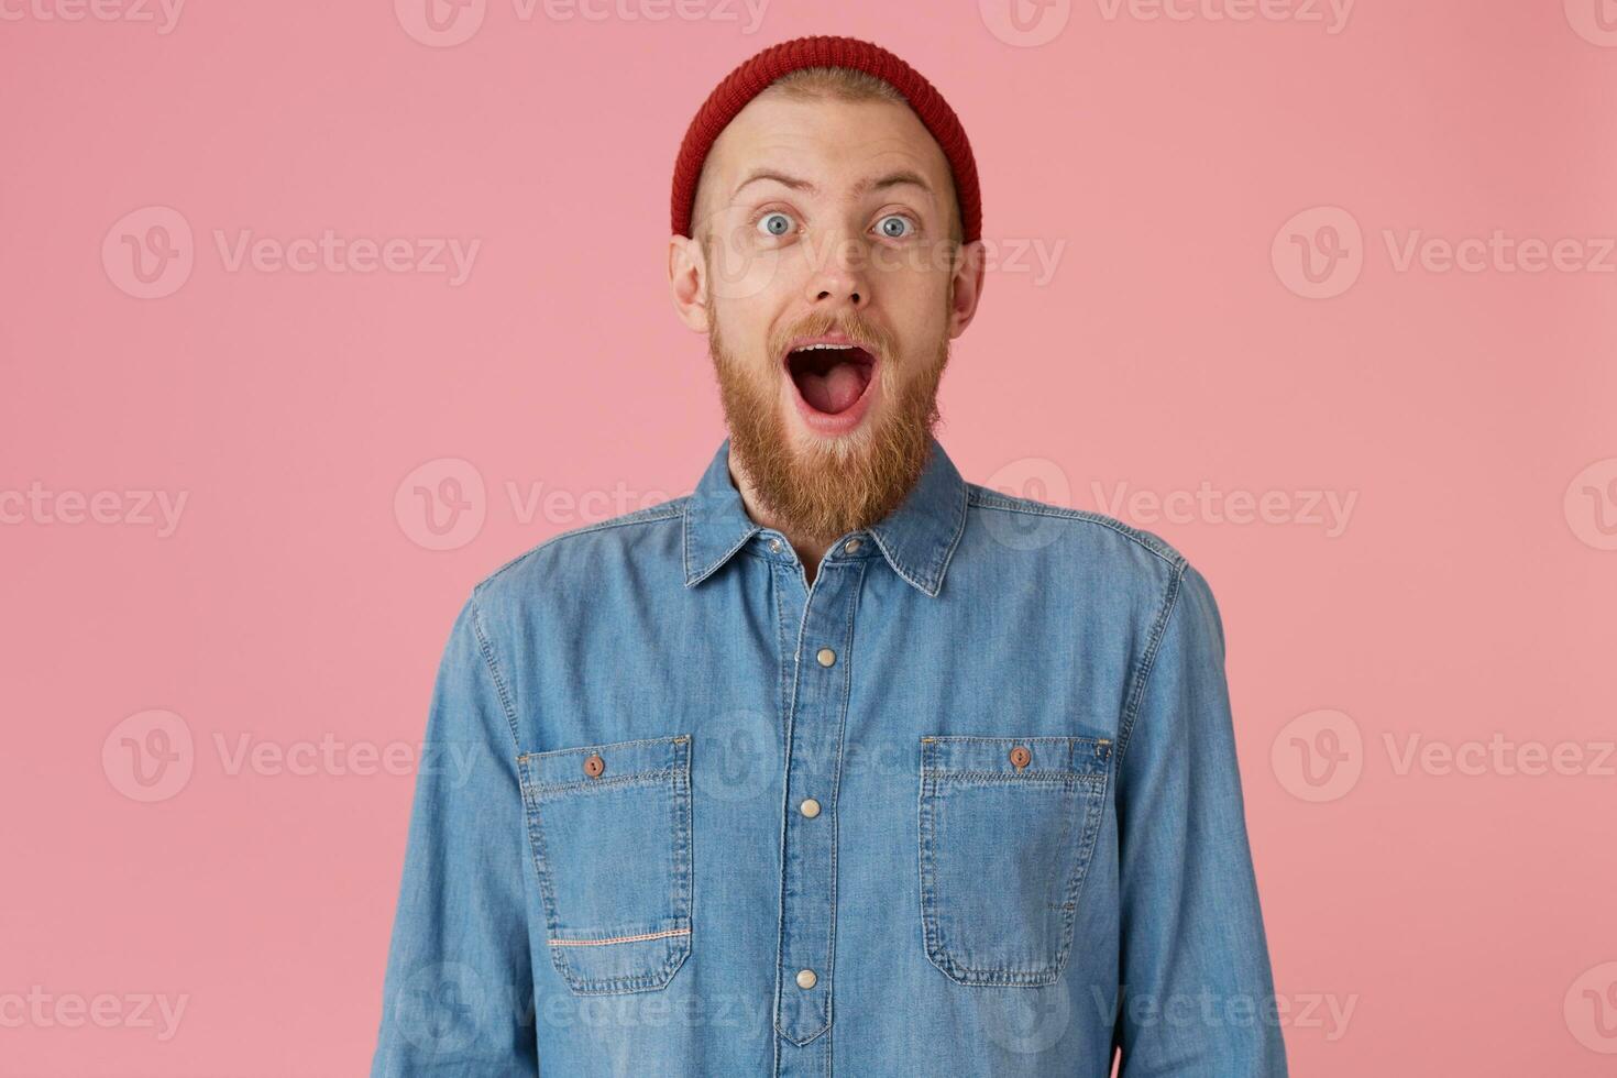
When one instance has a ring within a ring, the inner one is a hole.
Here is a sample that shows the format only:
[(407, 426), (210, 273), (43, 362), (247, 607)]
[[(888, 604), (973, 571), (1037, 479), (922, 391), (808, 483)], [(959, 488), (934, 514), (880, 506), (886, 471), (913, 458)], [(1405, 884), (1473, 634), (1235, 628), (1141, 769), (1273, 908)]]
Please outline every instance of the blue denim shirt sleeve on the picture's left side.
[(427, 716), (372, 1078), (538, 1075), (514, 708), (475, 593)]

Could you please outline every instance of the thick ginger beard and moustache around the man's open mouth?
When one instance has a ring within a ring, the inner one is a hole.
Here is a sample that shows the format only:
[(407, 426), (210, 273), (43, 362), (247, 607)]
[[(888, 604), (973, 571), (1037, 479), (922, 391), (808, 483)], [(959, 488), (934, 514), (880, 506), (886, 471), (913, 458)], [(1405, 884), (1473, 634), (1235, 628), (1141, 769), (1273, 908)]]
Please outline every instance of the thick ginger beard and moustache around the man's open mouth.
[[(875, 377), (881, 380), (880, 415), (842, 438), (815, 440), (800, 449), (783, 415), (779, 365), (784, 344), (799, 336), (842, 331), (880, 347)], [(752, 493), (771, 514), (771, 525), (791, 535), (830, 541), (876, 524), (893, 512), (927, 467), (938, 425), (938, 385), (949, 362), (949, 338), (938, 343), (925, 370), (901, 377), (891, 338), (859, 315), (817, 315), (768, 343), (765, 377), (737, 359), (720, 336), (718, 318), (708, 333), (708, 354), (718, 377), (731, 456), (741, 462)]]

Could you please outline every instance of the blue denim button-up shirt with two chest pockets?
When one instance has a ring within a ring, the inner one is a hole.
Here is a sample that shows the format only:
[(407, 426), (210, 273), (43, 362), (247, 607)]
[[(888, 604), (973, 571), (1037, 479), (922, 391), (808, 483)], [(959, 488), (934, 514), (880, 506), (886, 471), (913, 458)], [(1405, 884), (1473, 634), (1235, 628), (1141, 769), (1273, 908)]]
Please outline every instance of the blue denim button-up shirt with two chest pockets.
[(1286, 1075), (1206, 580), (933, 440), (810, 587), (728, 461), (461, 609), (372, 1075)]

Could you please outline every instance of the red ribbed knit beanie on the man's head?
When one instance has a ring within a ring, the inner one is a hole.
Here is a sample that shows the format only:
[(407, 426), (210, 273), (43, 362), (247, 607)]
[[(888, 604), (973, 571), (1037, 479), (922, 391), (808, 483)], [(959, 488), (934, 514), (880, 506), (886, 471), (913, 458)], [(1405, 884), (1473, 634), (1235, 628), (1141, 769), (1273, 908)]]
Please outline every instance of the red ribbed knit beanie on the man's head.
[(724, 76), (697, 110), (684, 142), (679, 144), (679, 158), (674, 162), (674, 234), (690, 234), (690, 212), (697, 179), (702, 176), (702, 162), (707, 160), (720, 131), (775, 79), (799, 68), (820, 66), (865, 71), (904, 95), (927, 131), (943, 147), (943, 155), (949, 158), (954, 194), (960, 204), (962, 241), (978, 239), (983, 229), (983, 207), (977, 192), (977, 162), (972, 158), (972, 144), (960, 120), (949, 108), (949, 102), (943, 100), (943, 94), (918, 71), (886, 48), (857, 37), (797, 37), (765, 48)]

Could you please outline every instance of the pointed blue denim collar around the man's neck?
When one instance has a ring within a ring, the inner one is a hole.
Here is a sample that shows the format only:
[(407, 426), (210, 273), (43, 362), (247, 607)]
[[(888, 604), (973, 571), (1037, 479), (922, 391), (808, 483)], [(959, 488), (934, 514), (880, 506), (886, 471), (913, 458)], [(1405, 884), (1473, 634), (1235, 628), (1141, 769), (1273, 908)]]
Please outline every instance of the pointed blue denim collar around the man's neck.
[[(936, 438), (920, 478), (897, 509), (867, 530), (893, 571), (928, 596), (943, 588), (960, 533), (965, 530), (965, 480)], [(731, 556), (762, 532), (747, 516), (741, 491), (729, 477), (729, 438), (708, 462), (707, 472), (686, 499), (686, 587), (707, 580)]]

